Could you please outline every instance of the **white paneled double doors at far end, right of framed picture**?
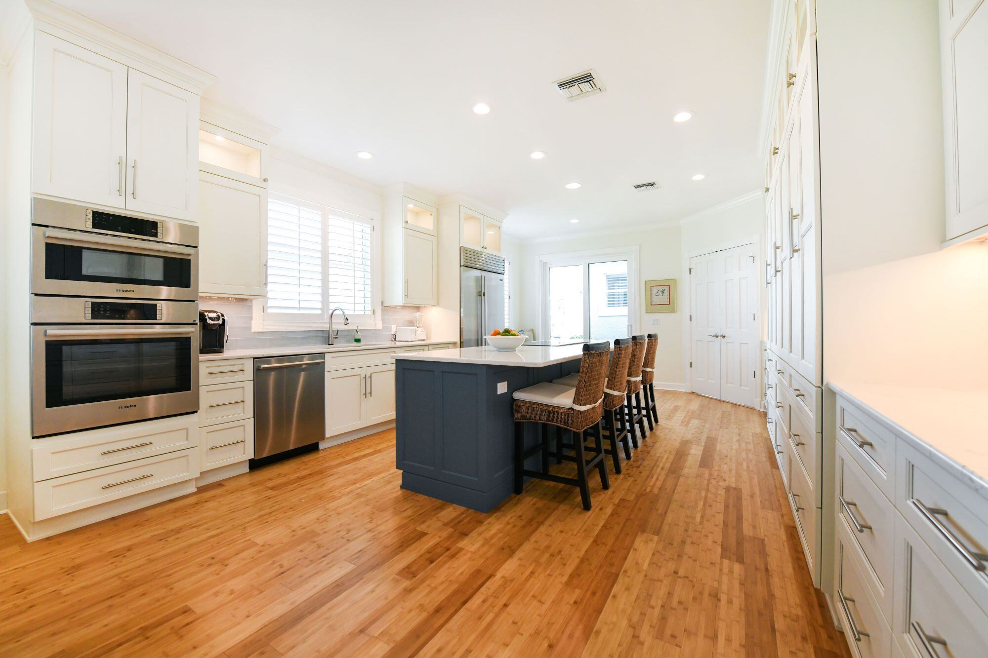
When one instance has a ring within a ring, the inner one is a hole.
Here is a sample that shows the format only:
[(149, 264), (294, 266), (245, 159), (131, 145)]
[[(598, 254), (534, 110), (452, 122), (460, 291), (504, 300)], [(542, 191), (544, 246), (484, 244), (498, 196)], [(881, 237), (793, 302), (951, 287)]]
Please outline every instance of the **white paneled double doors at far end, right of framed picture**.
[(695, 256), (691, 267), (693, 390), (758, 407), (758, 247)]

